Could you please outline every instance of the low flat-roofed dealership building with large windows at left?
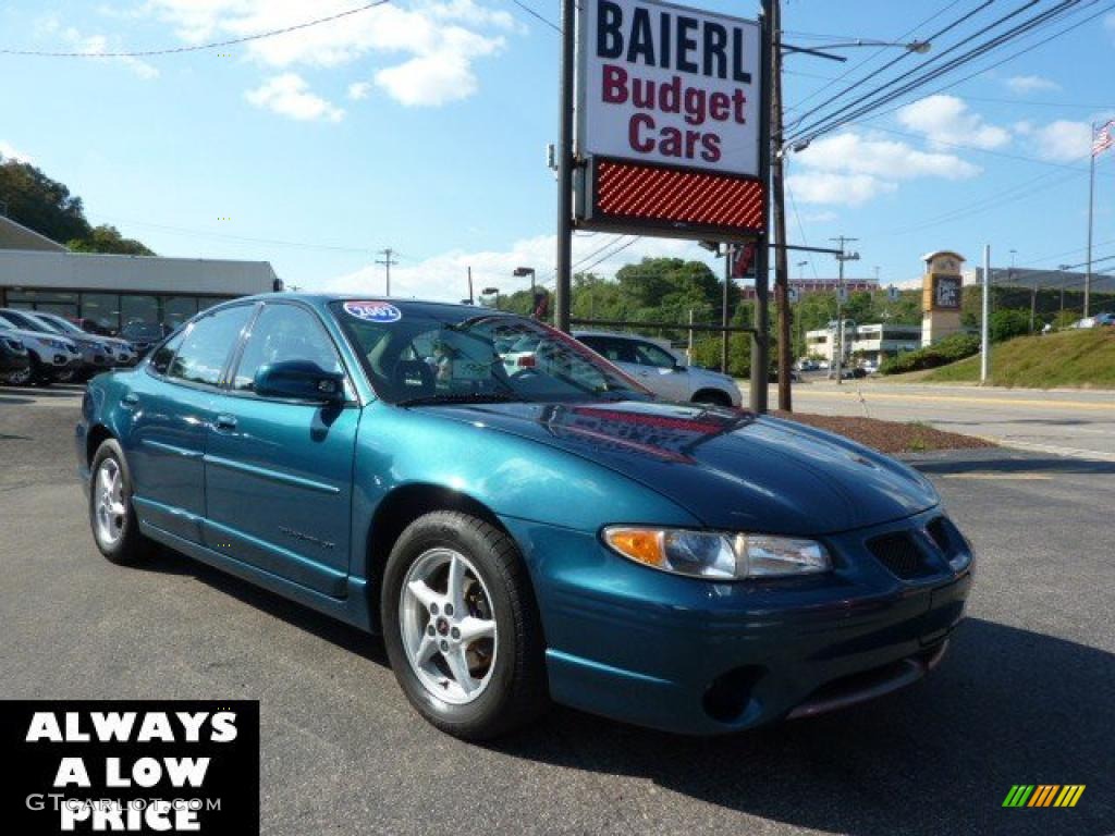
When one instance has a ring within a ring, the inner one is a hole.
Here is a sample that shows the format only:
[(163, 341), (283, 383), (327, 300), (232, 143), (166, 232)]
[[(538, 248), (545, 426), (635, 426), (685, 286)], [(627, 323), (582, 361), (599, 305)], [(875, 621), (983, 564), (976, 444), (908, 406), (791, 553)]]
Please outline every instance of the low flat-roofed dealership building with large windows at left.
[(132, 322), (174, 328), (226, 299), (279, 290), (265, 261), (71, 253), (0, 216), (0, 308), (88, 319), (115, 333)]

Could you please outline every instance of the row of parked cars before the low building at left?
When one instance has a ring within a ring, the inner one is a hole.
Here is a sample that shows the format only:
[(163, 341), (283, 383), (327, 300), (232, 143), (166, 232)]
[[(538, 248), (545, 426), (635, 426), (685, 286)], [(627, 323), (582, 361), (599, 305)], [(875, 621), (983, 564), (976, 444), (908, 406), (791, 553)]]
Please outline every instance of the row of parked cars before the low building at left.
[(136, 323), (120, 337), (106, 337), (56, 313), (0, 308), (0, 383), (84, 382), (99, 371), (135, 366), (164, 336), (159, 325)]

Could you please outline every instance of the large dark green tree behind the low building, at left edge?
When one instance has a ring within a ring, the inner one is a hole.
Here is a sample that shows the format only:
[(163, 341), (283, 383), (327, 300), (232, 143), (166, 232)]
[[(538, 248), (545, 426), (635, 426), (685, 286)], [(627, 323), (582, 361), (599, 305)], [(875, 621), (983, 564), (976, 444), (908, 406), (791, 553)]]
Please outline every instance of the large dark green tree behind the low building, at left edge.
[(8, 205), (8, 217), (51, 241), (89, 234), (81, 198), (30, 163), (0, 157), (0, 202)]

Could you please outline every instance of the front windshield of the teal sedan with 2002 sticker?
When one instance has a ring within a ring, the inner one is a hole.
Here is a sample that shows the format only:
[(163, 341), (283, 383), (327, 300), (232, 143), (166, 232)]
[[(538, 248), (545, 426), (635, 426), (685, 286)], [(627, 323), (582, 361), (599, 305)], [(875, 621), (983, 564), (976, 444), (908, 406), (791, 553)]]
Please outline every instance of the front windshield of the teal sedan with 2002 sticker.
[[(334, 302), (376, 393), (390, 404), (485, 400), (643, 399), (649, 392), (572, 338), (533, 320), (503, 314), (459, 318), (405, 307), (398, 319), (370, 321), (359, 305)], [(387, 305), (398, 312), (394, 305)], [(355, 313), (353, 313), (355, 311)], [(445, 315), (446, 313), (450, 315)]]

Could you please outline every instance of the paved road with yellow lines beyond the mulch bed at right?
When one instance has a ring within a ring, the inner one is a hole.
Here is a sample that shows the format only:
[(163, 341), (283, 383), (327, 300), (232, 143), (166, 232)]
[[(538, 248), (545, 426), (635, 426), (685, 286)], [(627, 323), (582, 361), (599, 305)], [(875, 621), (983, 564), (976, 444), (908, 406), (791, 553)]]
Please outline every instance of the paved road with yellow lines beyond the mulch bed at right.
[[(777, 404), (770, 390), (770, 404)], [(1115, 392), (915, 386), (876, 380), (802, 383), (794, 409), (924, 421), (1021, 449), (1115, 461)]]

